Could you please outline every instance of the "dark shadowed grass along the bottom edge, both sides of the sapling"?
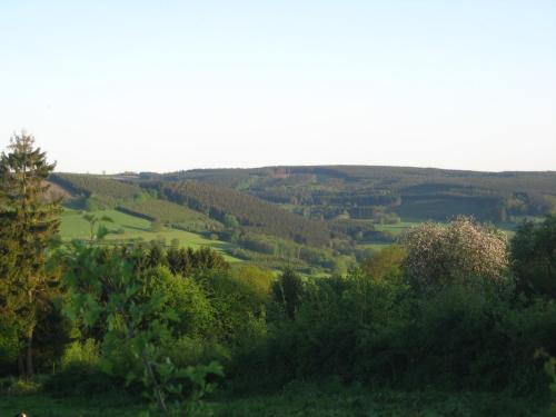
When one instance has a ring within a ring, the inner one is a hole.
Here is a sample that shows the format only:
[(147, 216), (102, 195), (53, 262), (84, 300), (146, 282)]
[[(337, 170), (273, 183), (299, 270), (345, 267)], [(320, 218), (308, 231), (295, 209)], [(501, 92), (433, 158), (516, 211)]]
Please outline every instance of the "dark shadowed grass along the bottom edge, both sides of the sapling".
[[(208, 401), (218, 417), (340, 417), (340, 416), (550, 416), (548, 398), (519, 398), (506, 393), (403, 391), (339, 384), (291, 383), (265, 395), (220, 394)], [(47, 394), (4, 395), (0, 416), (26, 411), (29, 417), (131, 417), (147, 405), (127, 396), (98, 395), (56, 398)], [(159, 416), (158, 413), (150, 414)]]

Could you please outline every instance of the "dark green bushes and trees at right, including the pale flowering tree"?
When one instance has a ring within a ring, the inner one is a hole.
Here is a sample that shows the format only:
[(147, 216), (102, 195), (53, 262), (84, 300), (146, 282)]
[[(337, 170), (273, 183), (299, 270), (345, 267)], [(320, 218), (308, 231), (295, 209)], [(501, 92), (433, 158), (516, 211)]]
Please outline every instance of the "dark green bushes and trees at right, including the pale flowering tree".
[(254, 379), (268, 388), (336, 376), (406, 389), (547, 393), (554, 241), (526, 248), (544, 248), (555, 225), (552, 217), (522, 227), (508, 251), (503, 235), (467, 219), (429, 224), (344, 277), (285, 274), (274, 289), (282, 316), (269, 318), (267, 336), (232, 361), (231, 375), (247, 390)]

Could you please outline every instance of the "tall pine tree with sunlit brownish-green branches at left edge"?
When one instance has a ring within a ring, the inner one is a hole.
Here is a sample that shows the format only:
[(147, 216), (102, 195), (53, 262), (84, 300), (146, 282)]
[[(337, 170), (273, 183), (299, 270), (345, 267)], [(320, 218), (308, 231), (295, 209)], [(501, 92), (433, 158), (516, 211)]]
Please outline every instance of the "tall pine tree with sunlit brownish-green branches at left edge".
[(0, 319), (18, 329), (20, 374), (33, 375), (38, 312), (56, 276), (46, 268), (58, 234), (60, 201), (50, 200), (44, 180), (54, 169), (33, 137), (16, 135), (0, 156)]

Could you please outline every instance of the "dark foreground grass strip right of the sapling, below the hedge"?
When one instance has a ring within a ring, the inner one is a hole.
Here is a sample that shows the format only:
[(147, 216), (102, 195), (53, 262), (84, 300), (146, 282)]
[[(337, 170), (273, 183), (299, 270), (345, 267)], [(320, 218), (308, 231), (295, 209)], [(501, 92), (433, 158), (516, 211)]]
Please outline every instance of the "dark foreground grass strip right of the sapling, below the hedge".
[(338, 385), (325, 388), (294, 383), (272, 395), (227, 398), (216, 416), (550, 416), (547, 398), (516, 398), (505, 393), (371, 390)]

